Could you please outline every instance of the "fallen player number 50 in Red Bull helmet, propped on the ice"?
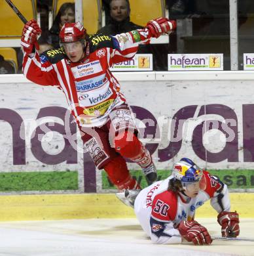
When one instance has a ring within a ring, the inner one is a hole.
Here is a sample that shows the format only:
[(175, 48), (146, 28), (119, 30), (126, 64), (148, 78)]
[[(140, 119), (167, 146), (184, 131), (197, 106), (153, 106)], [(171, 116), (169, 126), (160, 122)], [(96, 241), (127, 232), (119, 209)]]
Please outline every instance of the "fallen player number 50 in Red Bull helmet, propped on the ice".
[(184, 240), (211, 244), (208, 230), (194, 221), (196, 209), (208, 200), (218, 213), (222, 236), (238, 236), (239, 215), (230, 211), (227, 185), (189, 158), (175, 163), (168, 179), (141, 190), (134, 209), (143, 230), (156, 244), (180, 244)]

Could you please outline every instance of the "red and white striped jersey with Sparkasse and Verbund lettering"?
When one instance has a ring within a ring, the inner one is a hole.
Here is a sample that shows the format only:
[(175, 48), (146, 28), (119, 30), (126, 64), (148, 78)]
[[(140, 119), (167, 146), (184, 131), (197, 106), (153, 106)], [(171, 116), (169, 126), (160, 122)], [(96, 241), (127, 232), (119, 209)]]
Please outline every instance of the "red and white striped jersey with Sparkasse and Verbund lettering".
[(120, 85), (109, 68), (130, 60), (140, 43), (149, 42), (147, 30), (134, 30), (115, 36), (90, 35), (86, 56), (71, 62), (62, 49), (33, 57), (24, 54), (23, 71), (30, 81), (39, 85), (54, 85), (61, 89), (77, 123), (83, 127), (106, 123), (115, 106), (126, 101)]

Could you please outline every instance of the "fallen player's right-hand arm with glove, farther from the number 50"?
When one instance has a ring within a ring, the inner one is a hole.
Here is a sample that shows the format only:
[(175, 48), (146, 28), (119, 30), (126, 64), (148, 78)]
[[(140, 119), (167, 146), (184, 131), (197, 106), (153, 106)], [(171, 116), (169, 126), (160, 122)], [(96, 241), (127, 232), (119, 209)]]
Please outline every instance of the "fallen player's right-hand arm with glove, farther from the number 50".
[(221, 225), (223, 237), (236, 237), (240, 234), (239, 214), (230, 211), (230, 198), (227, 184), (219, 178), (204, 172), (206, 175), (206, 192), (211, 196), (211, 206), (219, 213), (217, 221)]

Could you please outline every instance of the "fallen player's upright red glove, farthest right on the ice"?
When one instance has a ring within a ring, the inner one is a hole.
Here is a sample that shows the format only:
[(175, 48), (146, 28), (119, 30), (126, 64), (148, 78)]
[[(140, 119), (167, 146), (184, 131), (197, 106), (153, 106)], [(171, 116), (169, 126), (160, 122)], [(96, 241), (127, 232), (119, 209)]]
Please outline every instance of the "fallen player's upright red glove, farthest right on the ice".
[(236, 238), (236, 236), (239, 236), (239, 214), (236, 211), (222, 211), (219, 213), (217, 221), (221, 225), (221, 234), (223, 237)]

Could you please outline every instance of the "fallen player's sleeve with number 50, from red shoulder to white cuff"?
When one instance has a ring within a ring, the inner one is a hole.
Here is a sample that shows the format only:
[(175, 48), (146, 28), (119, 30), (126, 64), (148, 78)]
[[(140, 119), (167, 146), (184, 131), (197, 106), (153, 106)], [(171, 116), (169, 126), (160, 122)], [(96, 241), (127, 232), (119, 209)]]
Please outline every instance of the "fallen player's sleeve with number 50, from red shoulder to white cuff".
[(179, 230), (174, 228), (173, 219), (177, 213), (177, 200), (168, 191), (154, 197), (150, 226), (150, 237), (154, 244), (181, 244)]

